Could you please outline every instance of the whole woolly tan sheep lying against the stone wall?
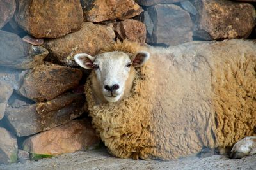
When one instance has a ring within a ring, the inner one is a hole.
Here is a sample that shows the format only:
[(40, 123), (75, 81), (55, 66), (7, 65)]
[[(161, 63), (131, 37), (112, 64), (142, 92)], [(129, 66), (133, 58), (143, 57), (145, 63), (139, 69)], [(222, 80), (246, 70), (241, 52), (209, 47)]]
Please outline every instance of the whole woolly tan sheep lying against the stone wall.
[(80, 53), (74, 58), (92, 69), (85, 84), (89, 115), (116, 157), (172, 160), (203, 147), (230, 148), (237, 141), (232, 157), (255, 153), (252, 41), (170, 48), (118, 41), (95, 57)]

